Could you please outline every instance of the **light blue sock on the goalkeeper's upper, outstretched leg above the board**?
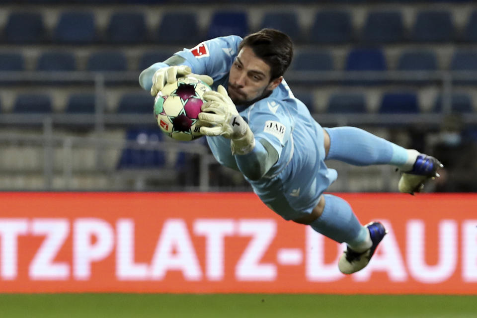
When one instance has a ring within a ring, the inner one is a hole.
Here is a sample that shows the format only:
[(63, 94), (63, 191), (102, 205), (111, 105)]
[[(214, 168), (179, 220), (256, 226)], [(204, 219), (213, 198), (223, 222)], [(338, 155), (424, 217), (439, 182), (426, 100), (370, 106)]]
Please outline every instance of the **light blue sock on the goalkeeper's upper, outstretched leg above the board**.
[[(326, 159), (353, 165), (408, 164), (408, 152), (386, 139), (356, 127), (325, 128), (330, 139)], [(411, 159), (412, 163), (414, 162)], [(412, 165), (411, 165), (412, 167)]]

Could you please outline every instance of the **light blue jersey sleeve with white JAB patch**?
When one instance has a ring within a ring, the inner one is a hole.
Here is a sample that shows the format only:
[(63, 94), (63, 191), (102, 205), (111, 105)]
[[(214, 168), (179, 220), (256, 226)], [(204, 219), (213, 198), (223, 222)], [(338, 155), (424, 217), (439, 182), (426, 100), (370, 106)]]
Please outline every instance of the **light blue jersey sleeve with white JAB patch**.
[(280, 157), (294, 128), (294, 120), (284, 101), (262, 99), (249, 110), (248, 117), (248, 125), (255, 138), (268, 141)]

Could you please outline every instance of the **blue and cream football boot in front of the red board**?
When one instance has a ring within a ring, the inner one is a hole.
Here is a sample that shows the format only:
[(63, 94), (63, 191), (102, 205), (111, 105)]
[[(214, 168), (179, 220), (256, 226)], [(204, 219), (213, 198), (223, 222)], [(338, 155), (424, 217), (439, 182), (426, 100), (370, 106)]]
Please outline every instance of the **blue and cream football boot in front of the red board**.
[(373, 245), (371, 245), (371, 248), (361, 253), (352, 250), (348, 245), (347, 250), (341, 254), (338, 261), (338, 268), (343, 274), (355, 273), (368, 265), (379, 242), (381, 242), (384, 236), (388, 233), (380, 222), (368, 223), (366, 227), (368, 228)]

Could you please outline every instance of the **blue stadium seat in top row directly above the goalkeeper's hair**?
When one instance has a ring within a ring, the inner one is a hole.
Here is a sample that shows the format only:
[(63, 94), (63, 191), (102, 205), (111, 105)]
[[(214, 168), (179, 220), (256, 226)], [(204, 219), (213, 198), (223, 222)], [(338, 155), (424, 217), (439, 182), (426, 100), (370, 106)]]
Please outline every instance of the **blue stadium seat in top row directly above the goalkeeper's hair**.
[(285, 32), (294, 42), (303, 40), (302, 31), (295, 12), (266, 12), (260, 23), (260, 29), (272, 28)]

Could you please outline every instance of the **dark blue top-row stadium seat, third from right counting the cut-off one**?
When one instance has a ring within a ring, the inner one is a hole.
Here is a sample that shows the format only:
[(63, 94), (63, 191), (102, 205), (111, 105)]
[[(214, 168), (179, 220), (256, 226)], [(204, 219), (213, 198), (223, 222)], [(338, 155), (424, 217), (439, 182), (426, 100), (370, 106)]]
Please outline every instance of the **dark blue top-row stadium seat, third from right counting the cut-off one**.
[(370, 12), (361, 38), (369, 43), (389, 43), (404, 40), (404, 26), (400, 11)]

